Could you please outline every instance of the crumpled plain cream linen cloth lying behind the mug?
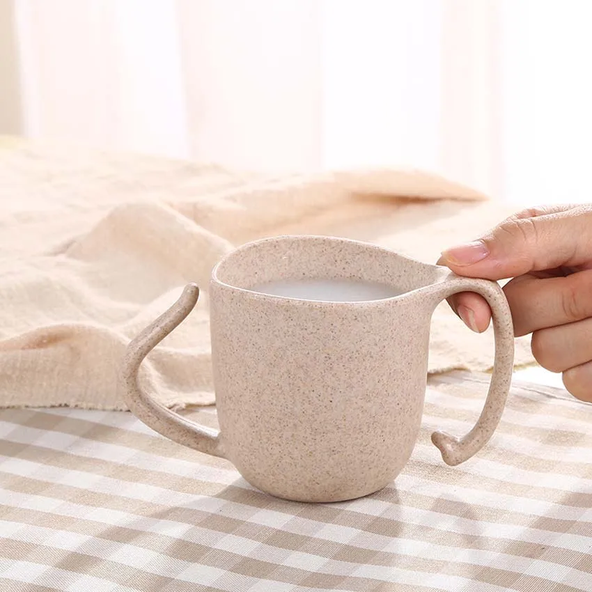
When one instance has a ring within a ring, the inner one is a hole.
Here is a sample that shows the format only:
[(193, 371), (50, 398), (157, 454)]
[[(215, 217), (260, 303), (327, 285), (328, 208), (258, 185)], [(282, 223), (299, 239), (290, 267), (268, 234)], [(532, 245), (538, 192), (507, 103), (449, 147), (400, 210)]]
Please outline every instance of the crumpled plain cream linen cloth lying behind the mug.
[[(210, 404), (208, 280), (258, 237), (330, 234), (426, 262), (511, 213), (423, 171), (264, 178), (219, 166), (0, 139), (0, 407), (126, 408), (118, 368), (130, 338), (185, 283), (203, 297), (143, 364), (171, 407)], [(492, 332), (446, 304), (433, 316), (430, 373), (483, 371)], [(533, 361), (517, 340), (516, 363)]]

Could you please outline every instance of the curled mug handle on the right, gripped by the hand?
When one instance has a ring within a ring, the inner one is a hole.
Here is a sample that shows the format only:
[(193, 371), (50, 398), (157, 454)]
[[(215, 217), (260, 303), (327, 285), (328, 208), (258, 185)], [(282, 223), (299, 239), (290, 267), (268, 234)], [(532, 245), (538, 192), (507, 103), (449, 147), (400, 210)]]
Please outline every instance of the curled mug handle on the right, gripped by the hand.
[(504, 412), (512, 373), (514, 371), (514, 327), (510, 306), (504, 291), (497, 282), (471, 279), (449, 274), (437, 284), (437, 302), (442, 302), (459, 292), (475, 292), (487, 300), (492, 310), (495, 336), (495, 359), (485, 405), (475, 426), (463, 437), (455, 437), (438, 431), (432, 434), (432, 442), (442, 453), (446, 465), (459, 465), (477, 453), (492, 437)]

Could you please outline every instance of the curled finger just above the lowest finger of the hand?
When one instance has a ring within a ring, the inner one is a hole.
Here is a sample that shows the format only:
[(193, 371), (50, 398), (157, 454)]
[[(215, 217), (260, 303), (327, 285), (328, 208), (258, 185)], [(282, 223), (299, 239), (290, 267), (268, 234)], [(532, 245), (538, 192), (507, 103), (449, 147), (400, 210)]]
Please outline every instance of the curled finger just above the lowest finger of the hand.
[(592, 360), (592, 318), (540, 329), (532, 335), (532, 354), (552, 372), (564, 372)]

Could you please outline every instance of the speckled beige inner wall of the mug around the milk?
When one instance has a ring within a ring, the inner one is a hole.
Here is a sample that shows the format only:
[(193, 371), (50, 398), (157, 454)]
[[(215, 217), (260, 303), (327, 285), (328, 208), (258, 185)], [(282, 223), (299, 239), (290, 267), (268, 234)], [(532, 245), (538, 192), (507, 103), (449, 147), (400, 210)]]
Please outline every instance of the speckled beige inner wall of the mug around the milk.
[[(373, 244), (297, 235), (245, 244), (221, 260), (212, 277), (227, 286), (258, 293), (266, 293), (260, 286), (277, 282), (357, 281), (389, 286), (391, 293), (384, 297), (394, 297), (433, 283), (437, 267)], [(364, 298), (356, 300), (360, 299)]]

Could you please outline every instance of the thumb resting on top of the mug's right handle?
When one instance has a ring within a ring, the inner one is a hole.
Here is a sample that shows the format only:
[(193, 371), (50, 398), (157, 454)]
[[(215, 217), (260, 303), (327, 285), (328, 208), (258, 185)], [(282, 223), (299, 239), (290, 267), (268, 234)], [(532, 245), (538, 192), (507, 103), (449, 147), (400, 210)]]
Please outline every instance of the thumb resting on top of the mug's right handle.
[(592, 259), (592, 208), (546, 215), (516, 215), (482, 238), (446, 249), (441, 262), (468, 277), (506, 279), (576, 266)]

